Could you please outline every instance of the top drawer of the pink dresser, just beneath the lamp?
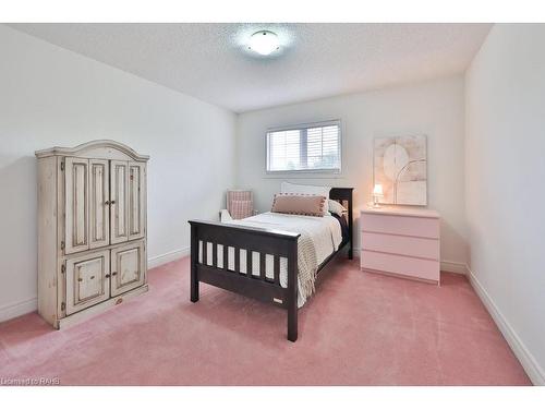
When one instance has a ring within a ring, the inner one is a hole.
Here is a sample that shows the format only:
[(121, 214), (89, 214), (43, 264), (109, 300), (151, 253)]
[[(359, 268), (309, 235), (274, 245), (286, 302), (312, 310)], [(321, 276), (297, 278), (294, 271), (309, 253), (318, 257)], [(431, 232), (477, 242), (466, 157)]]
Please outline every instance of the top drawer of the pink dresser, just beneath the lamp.
[(439, 238), (439, 219), (362, 213), (361, 229), (371, 232)]

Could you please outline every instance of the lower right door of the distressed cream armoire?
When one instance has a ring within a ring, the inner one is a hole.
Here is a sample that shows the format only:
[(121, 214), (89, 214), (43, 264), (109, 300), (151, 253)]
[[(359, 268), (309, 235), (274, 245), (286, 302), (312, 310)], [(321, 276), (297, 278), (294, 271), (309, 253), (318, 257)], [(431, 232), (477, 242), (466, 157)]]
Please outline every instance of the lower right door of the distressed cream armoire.
[(111, 297), (144, 284), (144, 242), (137, 241), (111, 251)]

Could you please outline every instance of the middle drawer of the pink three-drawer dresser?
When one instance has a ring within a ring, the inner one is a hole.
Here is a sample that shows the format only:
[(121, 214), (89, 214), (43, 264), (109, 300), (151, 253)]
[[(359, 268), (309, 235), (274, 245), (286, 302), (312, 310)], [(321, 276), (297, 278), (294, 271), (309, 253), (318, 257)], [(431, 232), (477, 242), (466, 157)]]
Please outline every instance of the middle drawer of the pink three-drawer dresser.
[(439, 260), (439, 240), (407, 236), (362, 232), (362, 249), (383, 253), (392, 253)]

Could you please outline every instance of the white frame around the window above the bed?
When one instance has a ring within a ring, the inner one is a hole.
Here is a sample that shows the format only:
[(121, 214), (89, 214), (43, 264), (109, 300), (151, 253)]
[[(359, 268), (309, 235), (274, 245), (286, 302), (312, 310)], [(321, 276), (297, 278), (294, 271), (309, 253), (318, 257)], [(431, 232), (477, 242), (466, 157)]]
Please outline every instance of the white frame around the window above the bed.
[[(319, 169), (283, 169), (283, 170), (269, 170), (270, 164), (270, 154), (269, 154), (269, 133), (270, 132), (283, 132), (283, 131), (301, 131), (311, 129), (311, 128), (324, 128), (337, 125), (339, 129), (339, 167), (336, 169), (331, 168), (319, 168)], [(267, 128), (265, 132), (265, 173), (267, 176), (289, 176), (289, 175), (303, 175), (303, 173), (326, 173), (326, 175), (341, 175), (342, 173), (342, 122), (340, 119), (332, 119), (328, 121), (319, 121), (319, 122), (307, 122), (307, 123), (299, 123), (294, 125), (284, 125), (284, 127), (274, 127)]]

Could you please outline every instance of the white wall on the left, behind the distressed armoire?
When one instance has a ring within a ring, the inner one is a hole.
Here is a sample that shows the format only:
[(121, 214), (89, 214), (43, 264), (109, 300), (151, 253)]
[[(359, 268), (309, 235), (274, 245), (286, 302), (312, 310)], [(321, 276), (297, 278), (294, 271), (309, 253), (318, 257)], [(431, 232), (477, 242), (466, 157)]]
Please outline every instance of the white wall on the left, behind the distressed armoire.
[(187, 219), (213, 218), (223, 205), (234, 180), (235, 120), (0, 25), (0, 321), (36, 306), (36, 149), (111, 139), (150, 155), (155, 258), (186, 249)]

